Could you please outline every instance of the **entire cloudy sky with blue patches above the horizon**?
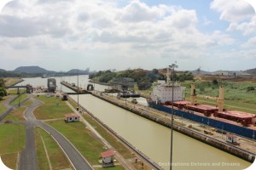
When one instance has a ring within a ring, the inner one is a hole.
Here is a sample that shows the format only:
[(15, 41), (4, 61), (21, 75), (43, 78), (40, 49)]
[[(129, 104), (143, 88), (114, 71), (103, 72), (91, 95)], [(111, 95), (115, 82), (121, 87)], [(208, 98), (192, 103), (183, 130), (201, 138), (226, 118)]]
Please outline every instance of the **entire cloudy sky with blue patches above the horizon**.
[[(1, 0), (2, 1), (2, 0)], [(244, 0), (13, 0), (0, 13), (0, 69), (256, 68)]]

